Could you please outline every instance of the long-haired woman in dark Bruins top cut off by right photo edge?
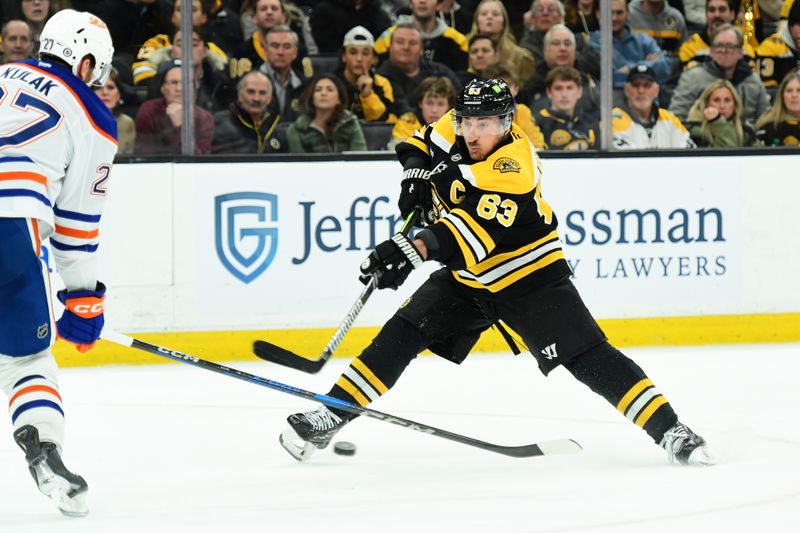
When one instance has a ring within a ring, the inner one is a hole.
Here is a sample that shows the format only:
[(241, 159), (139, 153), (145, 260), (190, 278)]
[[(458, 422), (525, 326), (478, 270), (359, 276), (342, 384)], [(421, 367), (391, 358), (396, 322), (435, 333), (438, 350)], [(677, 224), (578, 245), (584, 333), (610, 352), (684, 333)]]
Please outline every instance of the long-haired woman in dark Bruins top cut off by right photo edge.
[(764, 146), (800, 146), (800, 71), (783, 78), (775, 103), (756, 123), (756, 138)]

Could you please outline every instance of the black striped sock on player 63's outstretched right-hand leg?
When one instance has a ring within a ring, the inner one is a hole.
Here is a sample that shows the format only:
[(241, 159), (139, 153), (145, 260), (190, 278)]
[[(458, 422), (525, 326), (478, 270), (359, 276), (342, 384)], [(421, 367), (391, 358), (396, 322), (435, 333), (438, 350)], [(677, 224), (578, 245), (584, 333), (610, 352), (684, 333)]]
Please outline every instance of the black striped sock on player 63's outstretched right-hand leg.
[(608, 400), (625, 417), (661, 442), (678, 416), (639, 366), (604, 342), (564, 365), (575, 378)]

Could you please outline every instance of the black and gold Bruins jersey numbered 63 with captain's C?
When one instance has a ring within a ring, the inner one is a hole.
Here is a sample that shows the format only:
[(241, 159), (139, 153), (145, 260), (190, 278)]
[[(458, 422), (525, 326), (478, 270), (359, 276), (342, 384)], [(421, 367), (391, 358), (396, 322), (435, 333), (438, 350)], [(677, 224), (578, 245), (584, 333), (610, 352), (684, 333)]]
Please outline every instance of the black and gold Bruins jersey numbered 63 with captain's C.
[(570, 273), (555, 214), (542, 198), (542, 164), (515, 124), (484, 161), (456, 137), (453, 111), (397, 146), (403, 166), (432, 171), (437, 221), (429, 226), (444, 263), (469, 287), (500, 293), (541, 286)]

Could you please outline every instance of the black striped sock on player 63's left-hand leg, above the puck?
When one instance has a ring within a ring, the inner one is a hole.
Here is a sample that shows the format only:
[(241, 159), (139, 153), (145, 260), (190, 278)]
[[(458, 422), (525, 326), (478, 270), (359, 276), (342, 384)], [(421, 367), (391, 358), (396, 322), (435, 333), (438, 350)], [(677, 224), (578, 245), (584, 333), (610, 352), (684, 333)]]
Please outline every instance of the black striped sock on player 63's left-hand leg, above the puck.
[[(423, 348), (420, 331), (394, 316), (361, 355), (353, 359), (329, 395), (366, 407), (397, 383), (408, 363)], [(343, 418), (352, 418), (349, 413), (331, 410)]]

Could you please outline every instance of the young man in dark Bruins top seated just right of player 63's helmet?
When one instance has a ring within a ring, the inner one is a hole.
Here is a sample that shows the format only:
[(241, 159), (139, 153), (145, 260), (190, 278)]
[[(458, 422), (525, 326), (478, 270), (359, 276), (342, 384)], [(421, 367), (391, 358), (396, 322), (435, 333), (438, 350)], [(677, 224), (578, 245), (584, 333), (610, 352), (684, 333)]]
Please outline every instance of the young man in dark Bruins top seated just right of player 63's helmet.
[(536, 124), (550, 150), (588, 150), (596, 142), (597, 122), (585, 120), (578, 109), (581, 73), (571, 67), (556, 67), (545, 79), (548, 105), (534, 113)]

